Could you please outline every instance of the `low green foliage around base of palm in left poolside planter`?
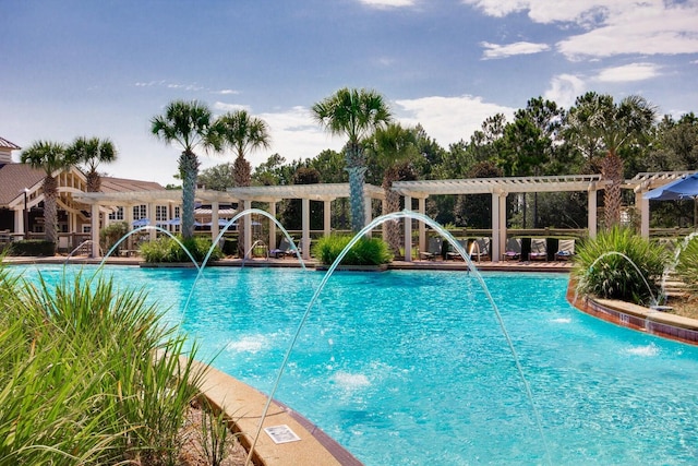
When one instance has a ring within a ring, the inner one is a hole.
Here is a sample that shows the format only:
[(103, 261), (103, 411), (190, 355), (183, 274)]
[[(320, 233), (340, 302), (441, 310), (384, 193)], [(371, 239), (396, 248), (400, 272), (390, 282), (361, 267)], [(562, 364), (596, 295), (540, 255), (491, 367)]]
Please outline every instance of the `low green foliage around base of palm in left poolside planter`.
[[(191, 259), (186, 251), (191, 253), (192, 258), (196, 262), (203, 262), (204, 258), (210, 249), (210, 239), (204, 237), (193, 237), (182, 239), (178, 237), (179, 241), (184, 246), (184, 249), (169, 236), (161, 237), (155, 241), (144, 242), (141, 244), (140, 254), (148, 263), (161, 263), (161, 262), (191, 262)], [(220, 248), (214, 248), (210, 253), (210, 261), (216, 261), (222, 258)]]

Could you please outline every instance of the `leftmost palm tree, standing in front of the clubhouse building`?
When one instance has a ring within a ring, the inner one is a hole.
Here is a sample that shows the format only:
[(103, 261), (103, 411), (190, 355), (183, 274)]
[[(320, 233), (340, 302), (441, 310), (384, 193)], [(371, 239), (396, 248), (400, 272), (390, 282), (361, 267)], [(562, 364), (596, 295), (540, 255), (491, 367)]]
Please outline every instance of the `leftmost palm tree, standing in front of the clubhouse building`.
[(56, 171), (70, 168), (75, 160), (61, 143), (50, 141), (37, 141), (22, 153), (23, 164), (28, 164), (32, 168), (44, 170), (44, 229), (46, 240), (56, 243), (58, 237), (58, 180)]

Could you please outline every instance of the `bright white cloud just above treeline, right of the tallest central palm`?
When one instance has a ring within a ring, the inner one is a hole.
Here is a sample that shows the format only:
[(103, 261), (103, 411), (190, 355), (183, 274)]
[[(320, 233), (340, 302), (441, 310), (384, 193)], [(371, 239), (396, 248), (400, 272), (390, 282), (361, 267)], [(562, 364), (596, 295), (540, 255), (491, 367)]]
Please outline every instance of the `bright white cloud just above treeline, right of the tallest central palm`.
[(459, 97), (422, 97), (396, 100), (404, 112), (397, 115), (399, 121), (408, 126), (421, 124), (436, 142), (447, 147), (460, 140), (468, 141), (482, 122), (495, 113), (504, 113), (510, 119), (515, 109), (482, 101), (481, 97), (464, 95)]

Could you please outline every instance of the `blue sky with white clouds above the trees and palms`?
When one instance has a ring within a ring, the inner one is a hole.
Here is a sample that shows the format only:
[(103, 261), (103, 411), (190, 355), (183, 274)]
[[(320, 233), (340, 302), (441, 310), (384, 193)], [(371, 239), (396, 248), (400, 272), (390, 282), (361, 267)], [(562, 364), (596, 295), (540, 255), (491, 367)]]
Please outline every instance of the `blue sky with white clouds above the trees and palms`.
[[(149, 134), (172, 99), (244, 108), (287, 160), (340, 150), (309, 108), (373, 88), (442, 146), (529, 98), (587, 91), (698, 112), (698, 0), (0, 0), (0, 136), (110, 138), (110, 176), (173, 182)], [(231, 154), (200, 153), (202, 168)], [(19, 153), (15, 153), (19, 159)]]

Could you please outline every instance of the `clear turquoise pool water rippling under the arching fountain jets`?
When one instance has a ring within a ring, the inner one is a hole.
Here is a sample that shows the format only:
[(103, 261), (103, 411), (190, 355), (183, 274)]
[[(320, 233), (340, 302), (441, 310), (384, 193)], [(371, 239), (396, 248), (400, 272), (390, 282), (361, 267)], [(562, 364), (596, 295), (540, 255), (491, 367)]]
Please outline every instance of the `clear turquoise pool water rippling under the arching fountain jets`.
[[(207, 268), (183, 309), (195, 270), (106, 273), (145, 287), (203, 359), (219, 353), (214, 366), (265, 393), (323, 278)], [(698, 463), (698, 348), (580, 313), (565, 301), (566, 275), (483, 277), (544, 440), (492, 307), (462, 272), (335, 274), (276, 397), (366, 465)]]

